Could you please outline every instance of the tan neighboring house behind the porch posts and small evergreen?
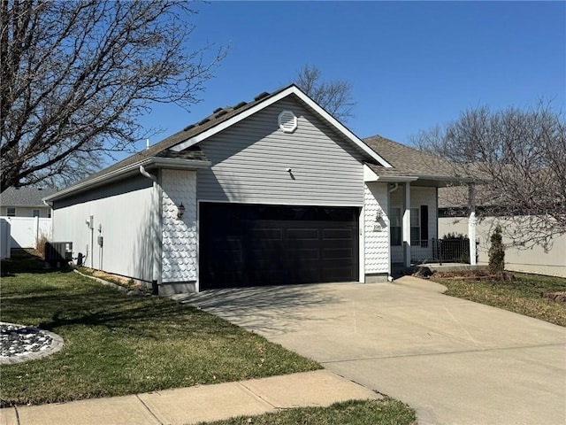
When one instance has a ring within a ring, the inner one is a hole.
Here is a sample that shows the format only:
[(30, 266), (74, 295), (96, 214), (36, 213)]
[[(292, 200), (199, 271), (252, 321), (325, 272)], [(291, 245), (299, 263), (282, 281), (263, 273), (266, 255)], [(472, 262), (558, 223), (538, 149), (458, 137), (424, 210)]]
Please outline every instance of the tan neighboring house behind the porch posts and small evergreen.
[[(496, 217), (485, 216), (482, 213), (482, 205), (489, 205), (493, 201), (482, 190), (481, 186), (476, 189), (476, 208), (480, 212), (480, 218), (476, 224), (476, 237), (478, 241), (478, 264), (489, 262), (490, 237), (498, 223), (504, 228), (503, 243), (505, 243), (505, 268), (511, 271), (547, 274), (566, 277), (566, 235), (556, 236), (549, 250), (535, 244), (524, 246), (513, 243), (509, 237), (513, 233), (521, 232), (524, 219), (514, 217), (513, 220), (498, 220)], [(468, 234), (469, 220), (465, 197), (466, 190), (461, 187), (440, 189), (439, 197), (439, 236), (452, 234)]]

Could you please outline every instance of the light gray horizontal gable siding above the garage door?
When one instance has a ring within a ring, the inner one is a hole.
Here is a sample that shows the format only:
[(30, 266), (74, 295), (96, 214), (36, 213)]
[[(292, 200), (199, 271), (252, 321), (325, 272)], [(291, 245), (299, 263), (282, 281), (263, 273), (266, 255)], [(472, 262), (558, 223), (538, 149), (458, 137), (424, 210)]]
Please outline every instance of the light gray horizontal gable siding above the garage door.
[[(283, 110), (298, 118), (293, 133), (279, 129)], [(363, 205), (363, 154), (298, 102), (273, 104), (200, 147), (212, 162), (198, 172), (200, 200)]]

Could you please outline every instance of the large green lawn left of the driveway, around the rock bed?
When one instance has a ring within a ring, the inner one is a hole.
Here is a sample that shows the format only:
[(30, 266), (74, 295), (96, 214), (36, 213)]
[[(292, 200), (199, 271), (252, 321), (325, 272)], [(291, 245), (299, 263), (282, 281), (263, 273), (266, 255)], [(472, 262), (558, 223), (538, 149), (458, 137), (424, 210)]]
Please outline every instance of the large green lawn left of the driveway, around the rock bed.
[(315, 370), (320, 366), (188, 305), (127, 297), (19, 253), (2, 262), (0, 320), (50, 330), (64, 348), (1, 366), (4, 406), (63, 402)]

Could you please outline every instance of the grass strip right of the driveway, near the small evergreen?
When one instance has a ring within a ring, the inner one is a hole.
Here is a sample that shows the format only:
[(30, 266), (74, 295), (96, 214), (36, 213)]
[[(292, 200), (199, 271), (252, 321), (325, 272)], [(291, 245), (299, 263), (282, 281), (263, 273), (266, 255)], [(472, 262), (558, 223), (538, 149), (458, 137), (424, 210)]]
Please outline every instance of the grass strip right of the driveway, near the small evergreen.
[(546, 292), (566, 291), (566, 279), (538, 274), (513, 276), (510, 281), (455, 280), (432, 274), (431, 279), (447, 287), (446, 295), (566, 326), (566, 304), (541, 297)]

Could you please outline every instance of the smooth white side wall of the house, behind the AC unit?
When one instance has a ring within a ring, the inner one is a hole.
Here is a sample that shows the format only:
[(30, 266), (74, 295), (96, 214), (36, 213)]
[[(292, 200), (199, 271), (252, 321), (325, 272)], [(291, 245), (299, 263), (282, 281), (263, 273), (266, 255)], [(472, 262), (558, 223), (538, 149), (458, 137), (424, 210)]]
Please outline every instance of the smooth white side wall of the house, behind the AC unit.
[[(150, 223), (156, 208), (152, 184), (139, 176), (56, 202), (53, 241), (73, 242), (73, 256), (79, 252), (87, 255), (87, 267), (151, 282)], [(86, 224), (91, 215), (92, 231)], [(97, 243), (99, 235), (103, 236), (103, 247)]]

